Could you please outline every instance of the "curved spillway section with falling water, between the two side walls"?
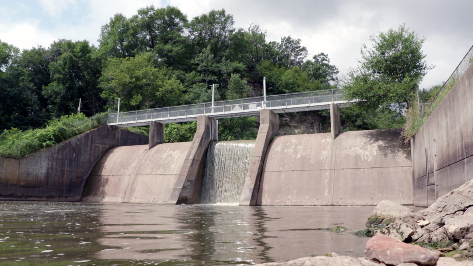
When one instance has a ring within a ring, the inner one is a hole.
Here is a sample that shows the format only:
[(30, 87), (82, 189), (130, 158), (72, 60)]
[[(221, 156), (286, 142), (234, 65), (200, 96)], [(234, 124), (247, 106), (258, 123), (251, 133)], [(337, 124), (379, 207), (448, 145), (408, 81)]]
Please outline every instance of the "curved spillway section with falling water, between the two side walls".
[(185, 161), (195, 157), (198, 143), (112, 148), (88, 177), (82, 201), (375, 205), (390, 199), (412, 204), (411, 154), (399, 129), (343, 132), (335, 139), (332, 133), (274, 136), (265, 143), (275, 133), (268, 129), (278, 124), (277, 115), (266, 113), (258, 139), (208, 140), (201, 145), (205, 151), (196, 152), (200, 160), (193, 159), (193, 169)]

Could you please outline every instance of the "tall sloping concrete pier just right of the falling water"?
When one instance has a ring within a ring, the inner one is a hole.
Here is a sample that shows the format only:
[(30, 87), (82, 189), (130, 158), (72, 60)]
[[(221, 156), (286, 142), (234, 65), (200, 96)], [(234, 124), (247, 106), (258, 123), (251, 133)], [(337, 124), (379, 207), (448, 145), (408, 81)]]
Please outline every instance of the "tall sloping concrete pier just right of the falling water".
[(256, 205), (260, 190), (260, 177), (264, 157), (272, 136), (279, 133), (279, 116), (269, 109), (260, 111), (260, 128), (254, 143), (250, 166), (246, 174), (245, 184), (241, 194), (240, 205)]

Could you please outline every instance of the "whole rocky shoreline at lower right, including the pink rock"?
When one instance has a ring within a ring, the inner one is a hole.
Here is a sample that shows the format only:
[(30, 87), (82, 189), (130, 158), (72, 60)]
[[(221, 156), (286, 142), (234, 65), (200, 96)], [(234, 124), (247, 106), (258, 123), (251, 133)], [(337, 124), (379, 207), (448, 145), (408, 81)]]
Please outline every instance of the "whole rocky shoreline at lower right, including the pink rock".
[(473, 180), (437, 199), (424, 210), (390, 201), (378, 204), (357, 235), (371, 236), (366, 257), (304, 257), (257, 266), (473, 266)]

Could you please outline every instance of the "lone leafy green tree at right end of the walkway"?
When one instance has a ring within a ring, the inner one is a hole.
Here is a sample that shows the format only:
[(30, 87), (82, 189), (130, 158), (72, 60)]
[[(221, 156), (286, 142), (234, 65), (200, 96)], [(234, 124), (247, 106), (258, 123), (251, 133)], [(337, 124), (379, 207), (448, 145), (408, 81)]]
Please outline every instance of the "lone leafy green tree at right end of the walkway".
[(358, 105), (375, 108), (409, 105), (419, 82), (433, 68), (423, 60), (425, 38), (400, 25), (371, 36), (370, 40), (372, 47), (361, 47), (360, 66), (348, 73), (349, 80), (343, 88), (345, 98), (359, 99)]

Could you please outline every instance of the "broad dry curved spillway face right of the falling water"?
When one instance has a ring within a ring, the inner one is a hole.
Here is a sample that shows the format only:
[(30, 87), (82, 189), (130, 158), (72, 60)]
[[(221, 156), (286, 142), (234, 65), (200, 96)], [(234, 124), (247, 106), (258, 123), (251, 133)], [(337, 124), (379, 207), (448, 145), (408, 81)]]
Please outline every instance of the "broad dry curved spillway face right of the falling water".
[(400, 132), (275, 137), (263, 167), (261, 204), (412, 204), (411, 153)]

